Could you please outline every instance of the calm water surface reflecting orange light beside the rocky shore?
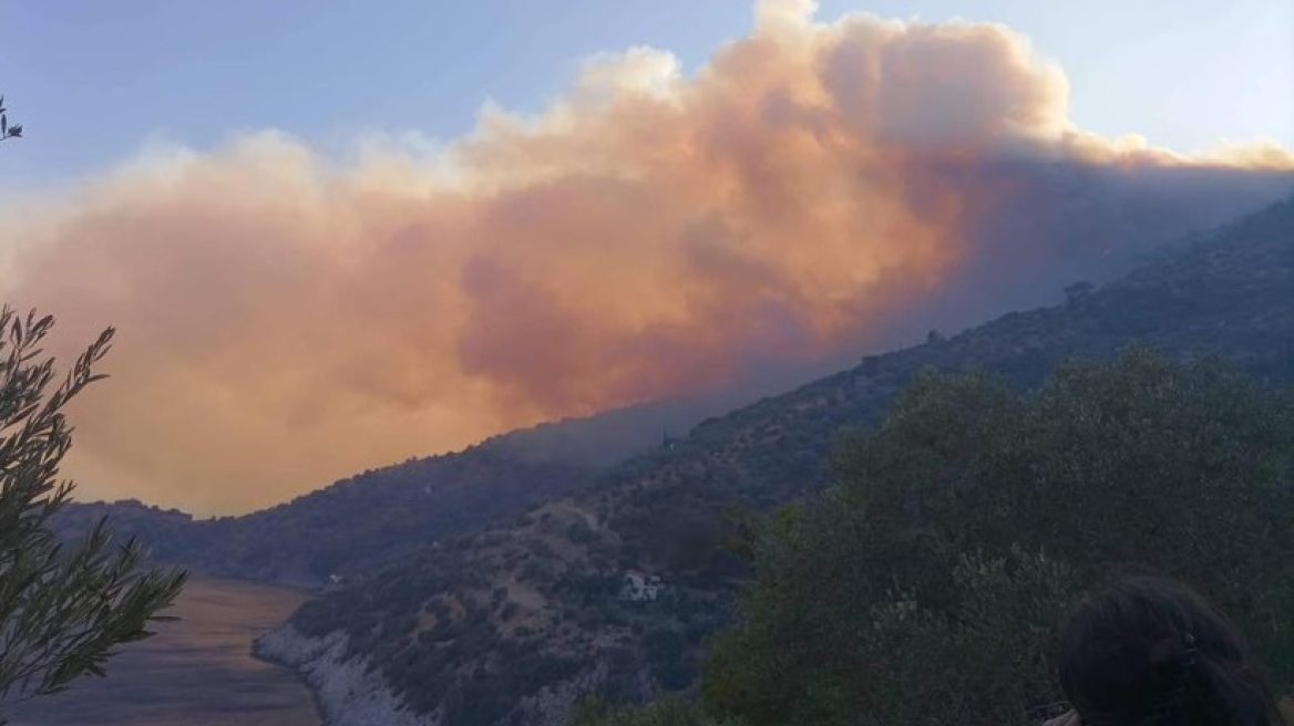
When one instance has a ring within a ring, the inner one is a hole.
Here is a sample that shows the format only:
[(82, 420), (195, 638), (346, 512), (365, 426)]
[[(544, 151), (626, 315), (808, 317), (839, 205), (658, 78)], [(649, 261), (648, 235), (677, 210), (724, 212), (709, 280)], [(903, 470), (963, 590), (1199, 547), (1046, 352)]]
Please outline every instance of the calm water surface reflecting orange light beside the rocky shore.
[(106, 678), (5, 712), (13, 726), (320, 726), (311, 691), (292, 673), (251, 656), (251, 639), (278, 625), (302, 592), (195, 579), (158, 634), (123, 647)]

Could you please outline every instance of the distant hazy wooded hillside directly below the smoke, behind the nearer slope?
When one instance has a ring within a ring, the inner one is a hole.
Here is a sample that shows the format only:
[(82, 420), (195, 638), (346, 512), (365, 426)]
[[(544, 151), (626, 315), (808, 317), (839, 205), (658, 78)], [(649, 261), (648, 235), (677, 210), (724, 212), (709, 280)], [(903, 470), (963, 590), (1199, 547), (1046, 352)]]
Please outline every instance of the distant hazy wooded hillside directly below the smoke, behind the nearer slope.
[(494, 437), (462, 452), (364, 472), (245, 517), (195, 521), (138, 501), (69, 504), (65, 539), (109, 514), (155, 559), (211, 575), (318, 585), (362, 575), (439, 539), (472, 532), (659, 446), (717, 402), (661, 402)]

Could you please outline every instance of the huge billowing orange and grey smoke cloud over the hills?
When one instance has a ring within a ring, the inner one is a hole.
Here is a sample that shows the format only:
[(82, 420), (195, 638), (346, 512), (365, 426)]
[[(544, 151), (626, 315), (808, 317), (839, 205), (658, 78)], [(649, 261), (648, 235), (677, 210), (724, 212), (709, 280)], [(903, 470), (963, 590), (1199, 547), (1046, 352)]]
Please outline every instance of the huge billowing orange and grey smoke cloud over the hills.
[(1004, 27), (811, 14), (760, 4), (690, 78), (650, 49), (591, 61), (540, 116), (487, 110), (435, 154), (340, 165), (261, 133), (10, 209), (5, 297), (62, 340), (120, 331), (76, 411), (82, 495), (242, 512), (714, 390), (1039, 302), (1294, 178), (1280, 149), (1083, 133)]

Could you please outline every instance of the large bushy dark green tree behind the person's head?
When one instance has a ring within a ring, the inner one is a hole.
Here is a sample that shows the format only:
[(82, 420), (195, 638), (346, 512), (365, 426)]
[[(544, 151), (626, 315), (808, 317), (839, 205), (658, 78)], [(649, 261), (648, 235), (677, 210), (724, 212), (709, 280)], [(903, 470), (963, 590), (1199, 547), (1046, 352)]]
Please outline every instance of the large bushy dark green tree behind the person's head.
[(1026, 394), (923, 375), (827, 492), (745, 527), (756, 577), (705, 700), (753, 725), (1035, 723), (1064, 608), (1127, 567), (1218, 599), (1289, 685), (1291, 478), (1289, 391), (1218, 360), (1131, 349)]

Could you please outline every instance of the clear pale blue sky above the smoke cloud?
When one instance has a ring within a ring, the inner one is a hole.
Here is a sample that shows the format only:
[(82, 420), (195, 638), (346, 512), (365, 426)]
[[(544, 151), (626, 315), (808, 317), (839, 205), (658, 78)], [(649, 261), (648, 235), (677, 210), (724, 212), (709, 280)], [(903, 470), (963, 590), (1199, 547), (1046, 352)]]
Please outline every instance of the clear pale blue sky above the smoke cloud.
[[(1181, 151), (1294, 146), (1288, 0), (826, 0), (818, 17), (1004, 22), (1058, 61), (1071, 115)], [(748, 0), (0, 0), (0, 90), (28, 138), (0, 181), (92, 173), (160, 137), (210, 147), (276, 128), (333, 147), (360, 130), (448, 140), (480, 105), (534, 111), (582, 58), (647, 44), (691, 70), (745, 34)], [(21, 146), (21, 147), (19, 147)]]

